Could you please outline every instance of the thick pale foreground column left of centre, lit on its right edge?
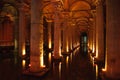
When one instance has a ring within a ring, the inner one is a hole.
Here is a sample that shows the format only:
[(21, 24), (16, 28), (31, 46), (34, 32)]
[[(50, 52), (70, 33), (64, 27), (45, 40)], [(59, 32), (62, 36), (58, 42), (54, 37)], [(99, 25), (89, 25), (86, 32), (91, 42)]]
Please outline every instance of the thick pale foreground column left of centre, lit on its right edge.
[(30, 38), (30, 71), (38, 72), (44, 67), (43, 62), (43, 18), (40, 13), (40, 2), (31, 2), (31, 38)]

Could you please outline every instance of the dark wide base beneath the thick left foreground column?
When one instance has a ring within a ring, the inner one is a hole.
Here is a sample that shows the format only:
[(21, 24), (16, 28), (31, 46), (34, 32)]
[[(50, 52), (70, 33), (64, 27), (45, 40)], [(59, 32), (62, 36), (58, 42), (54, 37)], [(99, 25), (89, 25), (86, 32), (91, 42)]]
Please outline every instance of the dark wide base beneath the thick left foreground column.
[(40, 68), (38, 71), (31, 71), (30, 68), (23, 70), (22, 74), (26, 76), (42, 77), (49, 71), (48, 68)]

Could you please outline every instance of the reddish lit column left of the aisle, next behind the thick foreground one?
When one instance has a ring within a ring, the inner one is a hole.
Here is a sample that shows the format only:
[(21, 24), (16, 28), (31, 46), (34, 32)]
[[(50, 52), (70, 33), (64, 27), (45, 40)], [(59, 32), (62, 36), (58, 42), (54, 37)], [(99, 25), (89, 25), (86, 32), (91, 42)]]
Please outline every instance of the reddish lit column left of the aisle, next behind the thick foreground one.
[(58, 2), (53, 1), (53, 7), (54, 7), (54, 53), (53, 57), (54, 59), (60, 59), (61, 58), (61, 27), (60, 27), (60, 10), (58, 8)]

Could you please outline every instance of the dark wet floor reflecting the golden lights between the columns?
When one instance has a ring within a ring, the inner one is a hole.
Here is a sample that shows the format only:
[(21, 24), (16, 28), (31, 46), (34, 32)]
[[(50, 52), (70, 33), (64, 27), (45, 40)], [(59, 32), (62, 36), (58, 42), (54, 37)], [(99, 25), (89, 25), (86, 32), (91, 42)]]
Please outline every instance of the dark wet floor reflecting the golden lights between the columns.
[(26, 76), (22, 71), (28, 68), (29, 58), (2, 59), (0, 61), (0, 80), (100, 80), (98, 66), (93, 66), (89, 56), (79, 50), (69, 56), (64, 55), (61, 61), (54, 61), (52, 53), (44, 55), (49, 71), (42, 77)]

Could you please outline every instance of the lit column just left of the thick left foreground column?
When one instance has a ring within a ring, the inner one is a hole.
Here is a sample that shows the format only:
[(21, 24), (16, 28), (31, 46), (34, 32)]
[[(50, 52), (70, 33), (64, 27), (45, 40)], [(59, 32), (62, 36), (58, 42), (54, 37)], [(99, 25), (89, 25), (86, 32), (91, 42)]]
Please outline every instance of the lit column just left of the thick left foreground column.
[(19, 56), (22, 57), (25, 55), (25, 27), (26, 27), (26, 18), (25, 18), (25, 8), (24, 4), (21, 3), (19, 8)]

